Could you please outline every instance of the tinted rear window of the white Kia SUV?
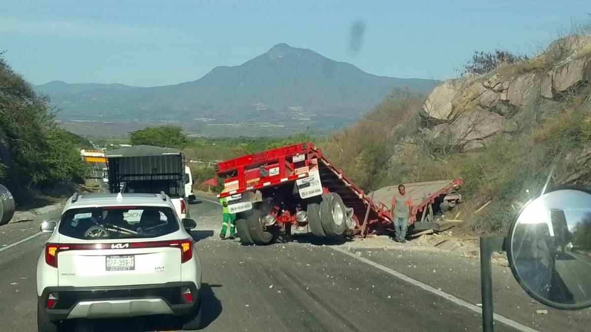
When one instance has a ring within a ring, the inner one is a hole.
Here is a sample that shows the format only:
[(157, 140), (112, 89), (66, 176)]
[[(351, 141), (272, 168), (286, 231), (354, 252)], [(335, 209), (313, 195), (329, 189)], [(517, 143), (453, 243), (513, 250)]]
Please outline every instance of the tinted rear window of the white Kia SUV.
[(109, 206), (67, 210), (59, 232), (77, 239), (129, 239), (163, 236), (178, 229), (168, 207)]

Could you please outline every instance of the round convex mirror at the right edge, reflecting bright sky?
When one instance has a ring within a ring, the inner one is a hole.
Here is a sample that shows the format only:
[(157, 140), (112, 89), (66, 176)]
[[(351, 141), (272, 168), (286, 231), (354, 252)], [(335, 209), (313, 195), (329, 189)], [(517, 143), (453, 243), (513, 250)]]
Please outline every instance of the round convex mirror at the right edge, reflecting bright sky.
[(591, 192), (550, 191), (525, 205), (509, 228), (507, 257), (519, 285), (559, 309), (591, 306)]

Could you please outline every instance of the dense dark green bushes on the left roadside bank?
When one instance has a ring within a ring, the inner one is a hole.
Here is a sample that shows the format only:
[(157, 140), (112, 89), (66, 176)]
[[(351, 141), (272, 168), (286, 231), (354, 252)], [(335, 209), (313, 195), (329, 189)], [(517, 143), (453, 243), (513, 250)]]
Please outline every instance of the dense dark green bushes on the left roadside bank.
[(0, 53), (0, 183), (17, 203), (35, 191), (82, 183), (89, 174), (79, 152), (87, 143), (61, 129), (54, 112)]

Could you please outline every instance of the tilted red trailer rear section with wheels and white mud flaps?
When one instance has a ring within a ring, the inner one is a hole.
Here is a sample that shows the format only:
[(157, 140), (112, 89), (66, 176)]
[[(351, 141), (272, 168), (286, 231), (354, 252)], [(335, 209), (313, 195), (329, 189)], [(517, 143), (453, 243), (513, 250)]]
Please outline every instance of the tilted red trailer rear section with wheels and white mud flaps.
[[(292, 226), (342, 239), (391, 224), (389, 204), (372, 200), (311, 142), (243, 155), (216, 165), (243, 244), (289, 239)], [(418, 210), (417, 210), (418, 211)], [(416, 214), (416, 211), (414, 212)]]

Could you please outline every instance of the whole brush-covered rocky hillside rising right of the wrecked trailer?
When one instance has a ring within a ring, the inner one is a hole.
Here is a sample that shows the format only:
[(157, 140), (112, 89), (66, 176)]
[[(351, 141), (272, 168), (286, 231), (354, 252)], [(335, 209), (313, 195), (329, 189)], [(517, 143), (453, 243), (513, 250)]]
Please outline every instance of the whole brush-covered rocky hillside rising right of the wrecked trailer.
[(590, 36), (401, 100), (385, 100), (326, 142), (327, 154), (368, 190), (461, 177), (465, 229), (501, 232), (547, 180), (591, 185)]

